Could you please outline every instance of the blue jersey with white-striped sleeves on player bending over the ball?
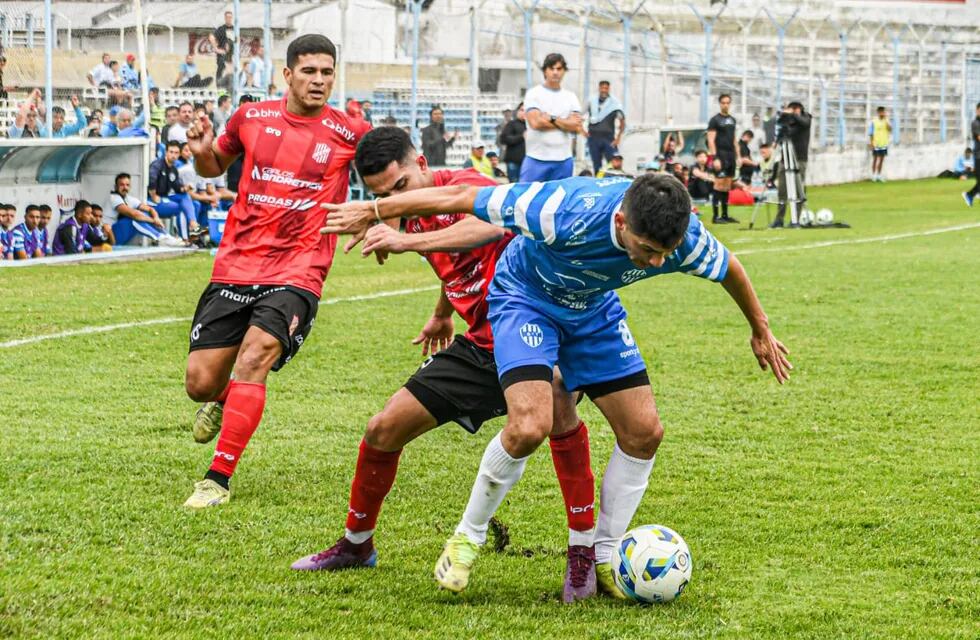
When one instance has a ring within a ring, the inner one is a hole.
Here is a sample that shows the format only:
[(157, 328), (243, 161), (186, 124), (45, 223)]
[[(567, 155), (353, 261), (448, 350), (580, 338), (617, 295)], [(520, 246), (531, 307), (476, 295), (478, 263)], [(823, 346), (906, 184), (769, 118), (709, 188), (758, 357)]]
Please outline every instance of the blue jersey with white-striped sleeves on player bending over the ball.
[(474, 213), (520, 234), (497, 264), (501, 292), (540, 298), (573, 311), (601, 305), (613, 289), (664, 273), (720, 282), (728, 250), (691, 216), (681, 244), (661, 267), (638, 269), (616, 238), (629, 178), (568, 178), (486, 187)]

